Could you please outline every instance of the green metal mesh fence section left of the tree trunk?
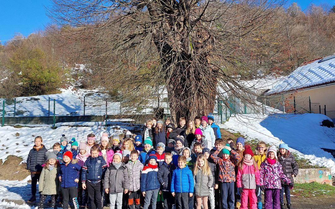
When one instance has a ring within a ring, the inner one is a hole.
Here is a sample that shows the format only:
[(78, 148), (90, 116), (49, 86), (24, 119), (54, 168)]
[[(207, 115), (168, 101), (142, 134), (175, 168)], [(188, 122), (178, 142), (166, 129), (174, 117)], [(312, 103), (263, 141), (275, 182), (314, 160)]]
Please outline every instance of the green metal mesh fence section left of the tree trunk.
[(135, 105), (126, 100), (84, 98), (0, 99), (1, 125), (109, 125), (143, 123), (157, 114), (169, 114), (167, 102), (149, 100)]

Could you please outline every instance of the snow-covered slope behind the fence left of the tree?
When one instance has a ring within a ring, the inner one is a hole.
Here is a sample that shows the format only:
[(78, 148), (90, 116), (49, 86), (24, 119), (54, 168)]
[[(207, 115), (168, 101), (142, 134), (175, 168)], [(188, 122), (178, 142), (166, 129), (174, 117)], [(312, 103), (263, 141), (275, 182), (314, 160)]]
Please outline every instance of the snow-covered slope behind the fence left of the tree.
[[(153, 107), (158, 106), (158, 101), (156, 100), (149, 100), (146, 105), (147, 108), (143, 109), (125, 106), (119, 101), (108, 101), (108, 95), (101, 93), (98, 89), (76, 89), (70, 86), (67, 89), (60, 90), (62, 91), (60, 94), (17, 97), (16, 104), (14, 104), (14, 101), (6, 101), (5, 117), (53, 116), (54, 113), (55, 116), (78, 116), (84, 115), (84, 112), (85, 115), (105, 115), (106, 111), (108, 115), (124, 113), (146, 114), (153, 112)], [(163, 98), (164, 95), (162, 96)], [(3, 100), (0, 98), (0, 110), (2, 110)], [(159, 104), (164, 107), (165, 114), (169, 113), (166, 102), (160, 101)], [(0, 116), (2, 116), (2, 111), (0, 111)]]

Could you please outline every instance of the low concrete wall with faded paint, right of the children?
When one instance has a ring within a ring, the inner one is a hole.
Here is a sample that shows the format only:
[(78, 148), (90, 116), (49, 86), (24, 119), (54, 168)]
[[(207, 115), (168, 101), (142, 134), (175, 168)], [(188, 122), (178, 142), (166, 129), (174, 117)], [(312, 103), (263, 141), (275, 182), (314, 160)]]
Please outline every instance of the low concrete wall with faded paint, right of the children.
[(330, 168), (322, 169), (299, 169), (297, 177), (293, 178), (294, 183), (311, 183), (318, 182), (320, 184), (332, 185), (332, 171)]

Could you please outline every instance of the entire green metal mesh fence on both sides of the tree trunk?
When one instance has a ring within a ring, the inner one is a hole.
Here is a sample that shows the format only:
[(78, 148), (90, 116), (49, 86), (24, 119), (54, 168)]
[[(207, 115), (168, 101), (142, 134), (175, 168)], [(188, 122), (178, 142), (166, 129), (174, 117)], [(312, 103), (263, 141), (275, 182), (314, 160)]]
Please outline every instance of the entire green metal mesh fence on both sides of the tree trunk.
[[(103, 100), (84, 98), (17, 98), (0, 99), (1, 125), (62, 126), (62, 125), (121, 125), (143, 124), (148, 118), (164, 118), (170, 114), (167, 98), (161, 101), (148, 100), (139, 105), (126, 100)], [(275, 112), (302, 114), (325, 114), (335, 122), (335, 111), (311, 102), (311, 98), (284, 98), (282, 96), (263, 98), (255, 104), (242, 102), (235, 97), (216, 100), (213, 115), (224, 123), (235, 114)]]

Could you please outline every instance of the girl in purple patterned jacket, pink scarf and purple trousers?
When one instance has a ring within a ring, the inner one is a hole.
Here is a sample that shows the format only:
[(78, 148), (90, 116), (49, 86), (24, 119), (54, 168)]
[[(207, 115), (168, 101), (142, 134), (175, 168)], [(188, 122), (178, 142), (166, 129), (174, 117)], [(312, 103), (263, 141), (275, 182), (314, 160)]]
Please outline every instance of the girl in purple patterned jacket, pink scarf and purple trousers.
[(280, 209), (280, 179), (282, 179), (290, 189), (293, 188), (293, 184), (284, 175), (283, 169), (277, 161), (277, 149), (275, 145), (268, 149), (266, 157), (260, 168), (260, 182), (263, 184), (260, 188), (264, 191), (264, 207), (265, 209)]

